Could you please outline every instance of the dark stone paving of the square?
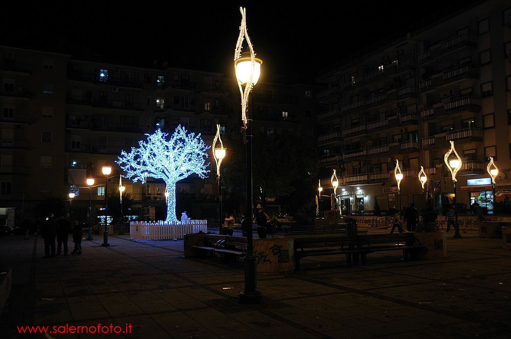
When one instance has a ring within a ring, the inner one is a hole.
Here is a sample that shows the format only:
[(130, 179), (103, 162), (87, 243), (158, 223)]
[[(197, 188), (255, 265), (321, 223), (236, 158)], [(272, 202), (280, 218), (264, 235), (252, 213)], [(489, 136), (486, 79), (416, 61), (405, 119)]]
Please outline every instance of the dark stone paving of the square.
[(66, 323), (132, 331), (50, 337), (511, 337), (511, 257), (501, 239), (448, 236), (448, 258), (412, 262), (399, 251), (351, 267), (343, 257), (305, 258), (300, 271), (258, 276), (263, 305), (240, 305), (242, 263), (185, 259), (182, 240), (128, 238), (111, 235), (105, 248), (97, 236), (80, 256), (42, 258), (40, 236), (0, 237), (0, 271), (13, 269), (0, 338), (43, 338), (16, 326)]

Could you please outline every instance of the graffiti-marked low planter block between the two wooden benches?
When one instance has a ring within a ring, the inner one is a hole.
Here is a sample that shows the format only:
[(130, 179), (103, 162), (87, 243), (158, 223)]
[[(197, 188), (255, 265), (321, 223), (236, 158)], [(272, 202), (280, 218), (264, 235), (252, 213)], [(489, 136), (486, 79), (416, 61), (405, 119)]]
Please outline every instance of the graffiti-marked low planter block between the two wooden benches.
[(253, 239), (257, 273), (272, 274), (293, 272), (294, 239)]

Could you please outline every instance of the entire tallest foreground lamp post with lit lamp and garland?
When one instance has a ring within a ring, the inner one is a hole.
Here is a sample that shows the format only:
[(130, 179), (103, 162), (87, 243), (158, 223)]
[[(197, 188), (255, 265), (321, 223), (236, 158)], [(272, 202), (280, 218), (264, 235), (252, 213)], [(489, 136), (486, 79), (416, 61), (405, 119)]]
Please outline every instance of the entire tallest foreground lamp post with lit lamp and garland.
[[(261, 59), (255, 58), (252, 43), (247, 32), (246, 9), (240, 7), (241, 25), (240, 35), (236, 42), (234, 54), (234, 68), (241, 94), (242, 131), (247, 153), (247, 255), (245, 256), (245, 289), (239, 294), (242, 304), (260, 304), (263, 294), (257, 289), (257, 274), (255, 272), (255, 256), (253, 253), (252, 232), (252, 121), (248, 117), (248, 98), (252, 87), (257, 84), (261, 75)], [(247, 40), (249, 53), (241, 54), (243, 40)]]

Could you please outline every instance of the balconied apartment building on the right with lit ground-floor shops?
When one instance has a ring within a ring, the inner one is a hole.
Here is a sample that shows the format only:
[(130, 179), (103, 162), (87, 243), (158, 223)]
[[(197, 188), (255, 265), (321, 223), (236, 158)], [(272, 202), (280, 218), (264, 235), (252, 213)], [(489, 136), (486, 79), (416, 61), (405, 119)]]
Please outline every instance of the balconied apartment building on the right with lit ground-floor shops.
[[(411, 202), (424, 208), (428, 199), (442, 209), (454, 198), (444, 163), (453, 140), (462, 159), (458, 203), (479, 202), (492, 212), (489, 157), (500, 169), (497, 201), (511, 184), (509, 51), (511, 9), (496, 0), (323, 71), (318, 80), (327, 86), (318, 93), (317, 116), (323, 187), (331, 189), (336, 169), (339, 204), (350, 210)], [(396, 161), (404, 175), (399, 191)]]

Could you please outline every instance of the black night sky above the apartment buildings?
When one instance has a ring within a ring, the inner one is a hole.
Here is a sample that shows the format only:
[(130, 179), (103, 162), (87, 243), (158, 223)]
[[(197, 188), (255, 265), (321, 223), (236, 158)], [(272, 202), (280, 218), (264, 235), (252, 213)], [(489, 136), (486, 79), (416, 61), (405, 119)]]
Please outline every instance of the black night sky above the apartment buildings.
[[(4, 11), (0, 44), (121, 64), (231, 72), (240, 5), (264, 72), (314, 81), (321, 68), (439, 12), (475, 0), (18, 2)], [(67, 4), (69, 3), (69, 4)], [(415, 5), (416, 6), (416, 5)], [(447, 8), (447, 9), (446, 9)], [(410, 13), (413, 13), (411, 15)], [(246, 42), (244, 44), (246, 46)]]

